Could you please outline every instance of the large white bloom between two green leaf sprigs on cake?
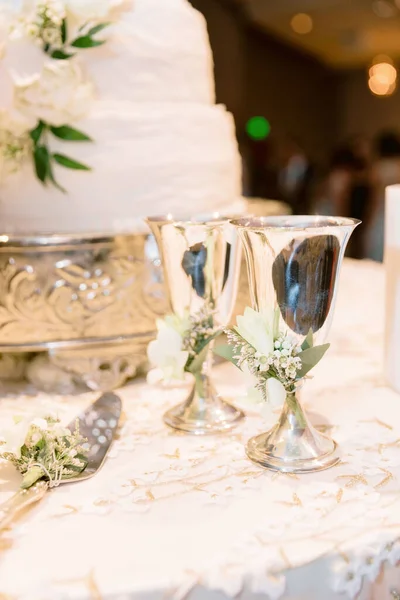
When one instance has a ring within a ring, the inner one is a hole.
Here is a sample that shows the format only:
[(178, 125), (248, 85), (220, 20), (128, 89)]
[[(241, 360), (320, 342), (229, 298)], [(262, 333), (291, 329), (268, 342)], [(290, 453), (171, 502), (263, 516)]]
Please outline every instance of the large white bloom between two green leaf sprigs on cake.
[(73, 60), (48, 61), (40, 75), (15, 90), (16, 107), (36, 121), (60, 127), (82, 119), (90, 109), (94, 87)]

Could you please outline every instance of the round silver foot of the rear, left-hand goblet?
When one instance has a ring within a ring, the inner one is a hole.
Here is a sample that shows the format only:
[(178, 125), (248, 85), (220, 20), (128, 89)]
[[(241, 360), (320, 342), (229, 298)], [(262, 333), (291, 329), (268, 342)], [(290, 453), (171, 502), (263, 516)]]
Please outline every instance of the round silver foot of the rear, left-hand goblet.
[(202, 376), (186, 402), (165, 413), (164, 423), (185, 433), (212, 435), (230, 431), (243, 417), (243, 412), (222, 400), (210, 380)]

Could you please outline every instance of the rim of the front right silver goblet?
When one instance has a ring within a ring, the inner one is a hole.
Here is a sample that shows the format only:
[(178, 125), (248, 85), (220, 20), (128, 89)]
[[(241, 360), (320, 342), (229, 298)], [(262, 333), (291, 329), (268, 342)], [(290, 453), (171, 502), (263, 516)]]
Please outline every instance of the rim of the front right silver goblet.
[(324, 215), (271, 215), (265, 217), (246, 216), (231, 219), (237, 229), (250, 231), (316, 231), (327, 228), (351, 227), (360, 225), (359, 219)]

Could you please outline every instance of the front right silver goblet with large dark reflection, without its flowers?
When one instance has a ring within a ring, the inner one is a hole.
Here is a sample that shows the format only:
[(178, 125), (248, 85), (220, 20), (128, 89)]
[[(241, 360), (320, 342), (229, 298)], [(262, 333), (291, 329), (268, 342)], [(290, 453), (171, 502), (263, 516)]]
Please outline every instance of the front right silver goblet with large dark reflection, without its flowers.
[[(331, 326), (339, 271), (354, 219), (318, 216), (242, 218), (232, 221), (243, 241), (253, 308), (279, 309), (279, 330), (301, 344), (310, 329), (322, 344)], [(269, 469), (308, 473), (340, 458), (336, 442), (310, 424), (288, 392), (278, 423), (250, 439), (247, 455)]]

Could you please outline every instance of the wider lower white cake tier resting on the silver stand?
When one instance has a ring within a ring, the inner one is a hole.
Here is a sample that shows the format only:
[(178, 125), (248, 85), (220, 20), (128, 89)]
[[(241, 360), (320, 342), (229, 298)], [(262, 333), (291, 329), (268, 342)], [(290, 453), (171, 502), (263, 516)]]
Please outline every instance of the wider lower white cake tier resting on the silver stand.
[[(55, 166), (64, 194), (26, 164), (0, 190), (3, 231), (123, 230), (151, 213), (229, 211), (240, 196), (234, 123), (222, 106), (99, 104), (79, 126), (95, 142), (68, 142), (68, 153), (93, 172)], [(65, 147), (52, 139), (53, 151)]]

